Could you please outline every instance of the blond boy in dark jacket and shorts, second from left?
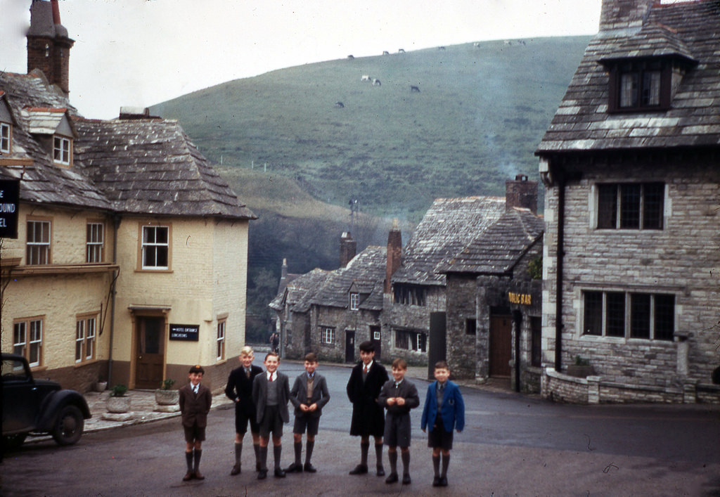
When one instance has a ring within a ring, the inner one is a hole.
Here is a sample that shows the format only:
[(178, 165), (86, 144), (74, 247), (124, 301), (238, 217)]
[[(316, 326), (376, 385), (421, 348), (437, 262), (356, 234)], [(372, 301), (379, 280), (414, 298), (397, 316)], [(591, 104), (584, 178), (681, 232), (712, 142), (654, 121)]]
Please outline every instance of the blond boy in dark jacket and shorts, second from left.
[(243, 453), (243, 438), (248, 431), (248, 422), (253, 437), (253, 449), (255, 449), (255, 469), (260, 470), (260, 427), (255, 420), (253, 380), (257, 375), (262, 374), (263, 368), (253, 366), (255, 354), (251, 346), (240, 349), (238, 359), (241, 365), (230, 372), (228, 385), (225, 387), (225, 395), (235, 403), (235, 465), (230, 475), (240, 474), (240, 456)]

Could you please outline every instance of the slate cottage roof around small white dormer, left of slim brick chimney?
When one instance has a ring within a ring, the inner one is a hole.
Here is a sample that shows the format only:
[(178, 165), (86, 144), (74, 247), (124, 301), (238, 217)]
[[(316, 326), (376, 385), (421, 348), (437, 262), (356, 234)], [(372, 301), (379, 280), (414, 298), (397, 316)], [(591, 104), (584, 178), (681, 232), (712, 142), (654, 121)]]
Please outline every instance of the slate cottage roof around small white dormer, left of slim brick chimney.
[[(360, 308), (382, 309), (382, 282), (385, 278), (387, 265), (387, 247), (368, 246), (357, 254), (346, 267), (335, 269), (328, 274), (327, 279), (317, 292), (310, 297), (309, 304), (325, 305), (336, 308), (347, 308), (350, 304), (348, 292), (356, 281), (363, 285), (367, 282), (374, 284), (369, 297), (361, 302)], [(379, 292), (379, 307), (378, 304)]]

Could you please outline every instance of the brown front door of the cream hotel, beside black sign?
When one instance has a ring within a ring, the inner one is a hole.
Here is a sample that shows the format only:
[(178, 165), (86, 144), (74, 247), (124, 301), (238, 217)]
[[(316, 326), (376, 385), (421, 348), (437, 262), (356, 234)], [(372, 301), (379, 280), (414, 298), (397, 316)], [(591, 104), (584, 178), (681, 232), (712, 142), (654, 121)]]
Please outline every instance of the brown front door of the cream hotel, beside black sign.
[(135, 388), (160, 388), (165, 364), (165, 318), (138, 317)]

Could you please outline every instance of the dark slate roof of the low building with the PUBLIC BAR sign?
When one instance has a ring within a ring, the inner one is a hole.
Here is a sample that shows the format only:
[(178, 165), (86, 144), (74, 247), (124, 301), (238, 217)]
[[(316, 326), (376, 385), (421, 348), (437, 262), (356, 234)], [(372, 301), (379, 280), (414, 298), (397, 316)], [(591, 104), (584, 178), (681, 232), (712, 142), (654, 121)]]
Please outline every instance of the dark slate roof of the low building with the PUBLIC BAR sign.
[(438, 264), (436, 272), (510, 274), (544, 230), (542, 218), (513, 207), (462, 251)]

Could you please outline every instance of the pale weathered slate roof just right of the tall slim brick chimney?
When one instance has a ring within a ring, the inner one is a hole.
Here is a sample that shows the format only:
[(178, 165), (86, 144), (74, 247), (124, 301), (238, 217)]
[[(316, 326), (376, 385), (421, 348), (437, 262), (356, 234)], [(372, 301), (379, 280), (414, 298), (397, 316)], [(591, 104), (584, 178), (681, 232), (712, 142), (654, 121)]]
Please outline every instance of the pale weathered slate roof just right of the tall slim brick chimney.
[(393, 282), (445, 285), (436, 266), (485, 231), (505, 212), (505, 197), (436, 199), (402, 251)]

